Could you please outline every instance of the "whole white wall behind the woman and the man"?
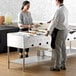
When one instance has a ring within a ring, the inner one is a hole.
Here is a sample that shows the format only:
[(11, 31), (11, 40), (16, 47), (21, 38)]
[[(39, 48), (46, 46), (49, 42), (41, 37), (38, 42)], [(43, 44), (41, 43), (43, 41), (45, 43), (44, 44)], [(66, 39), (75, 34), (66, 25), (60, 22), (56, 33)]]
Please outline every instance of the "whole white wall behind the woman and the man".
[[(0, 0), (0, 12), (6, 15), (11, 13), (13, 21), (17, 21), (17, 14), (20, 11), (24, 0)], [(33, 21), (48, 21), (55, 13), (55, 0), (29, 0), (31, 2), (31, 14)], [(69, 23), (76, 23), (76, 0), (65, 0), (69, 10)]]

